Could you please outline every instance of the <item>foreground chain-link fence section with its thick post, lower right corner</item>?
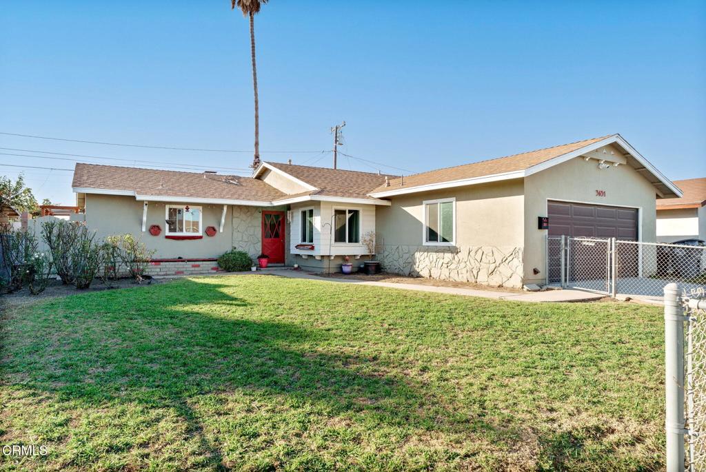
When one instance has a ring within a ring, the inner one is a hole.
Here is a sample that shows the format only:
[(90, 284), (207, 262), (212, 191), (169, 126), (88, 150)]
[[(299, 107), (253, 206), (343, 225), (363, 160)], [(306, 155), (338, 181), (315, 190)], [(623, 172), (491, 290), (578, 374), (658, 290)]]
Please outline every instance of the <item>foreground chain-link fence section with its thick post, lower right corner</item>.
[(666, 470), (706, 471), (706, 296), (664, 287)]

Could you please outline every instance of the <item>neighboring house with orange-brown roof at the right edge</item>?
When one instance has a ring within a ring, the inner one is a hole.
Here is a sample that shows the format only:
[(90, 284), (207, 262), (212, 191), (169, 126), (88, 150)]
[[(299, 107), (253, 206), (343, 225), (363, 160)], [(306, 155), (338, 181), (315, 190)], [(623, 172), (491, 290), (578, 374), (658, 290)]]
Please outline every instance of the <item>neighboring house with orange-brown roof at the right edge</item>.
[(706, 177), (674, 181), (684, 195), (657, 200), (657, 241), (706, 241)]

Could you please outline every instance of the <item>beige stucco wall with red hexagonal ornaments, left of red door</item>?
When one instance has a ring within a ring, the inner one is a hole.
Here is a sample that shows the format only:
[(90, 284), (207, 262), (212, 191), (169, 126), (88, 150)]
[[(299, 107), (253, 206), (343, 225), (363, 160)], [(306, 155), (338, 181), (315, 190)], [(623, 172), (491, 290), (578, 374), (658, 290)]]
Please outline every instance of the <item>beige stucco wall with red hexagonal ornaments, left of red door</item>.
[[(200, 205), (184, 202), (185, 205), (201, 207), (203, 230), (207, 226), (220, 226), (222, 205)], [(223, 231), (215, 236), (206, 236), (193, 241), (175, 241), (164, 238), (164, 202), (148, 202), (147, 224), (162, 228), (159, 236), (142, 231), (143, 202), (133, 197), (116, 195), (86, 195), (86, 224), (95, 229), (100, 237), (113, 234), (132, 233), (139, 236), (148, 248), (157, 250), (155, 258), (217, 258), (231, 248), (245, 250), (255, 258), (261, 252), (261, 207), (227, 207)], [(285, 207), (268, 207), (267, 210), (284, 210)]]

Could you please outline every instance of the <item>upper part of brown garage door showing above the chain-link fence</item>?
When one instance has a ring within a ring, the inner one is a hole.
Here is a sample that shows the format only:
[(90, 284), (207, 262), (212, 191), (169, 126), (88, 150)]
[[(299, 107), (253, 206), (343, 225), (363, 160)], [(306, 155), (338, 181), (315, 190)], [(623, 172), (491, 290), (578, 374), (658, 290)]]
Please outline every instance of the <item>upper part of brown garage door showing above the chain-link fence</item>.
[(549, 236), (638, 239), (638, 210), (549, 201)]

